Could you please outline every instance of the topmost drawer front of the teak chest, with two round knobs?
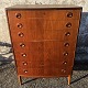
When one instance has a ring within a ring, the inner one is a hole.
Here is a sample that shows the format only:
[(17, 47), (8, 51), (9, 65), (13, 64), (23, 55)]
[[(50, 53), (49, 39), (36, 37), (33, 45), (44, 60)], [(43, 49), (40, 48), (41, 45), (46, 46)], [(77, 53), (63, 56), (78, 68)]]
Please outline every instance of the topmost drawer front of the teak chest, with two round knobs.
[(11, 10), (8, 15), (14, 20), (46, 19), (67, 20), (79, 19), (80, 10)]

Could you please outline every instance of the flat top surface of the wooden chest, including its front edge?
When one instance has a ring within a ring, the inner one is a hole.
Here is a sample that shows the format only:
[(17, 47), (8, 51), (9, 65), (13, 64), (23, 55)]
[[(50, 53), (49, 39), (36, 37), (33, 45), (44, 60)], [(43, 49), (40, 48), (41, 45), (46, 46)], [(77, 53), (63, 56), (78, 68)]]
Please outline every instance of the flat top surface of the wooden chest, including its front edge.
[(62, 9), (62, 10), (65, 10), (65, 9), (79, 9), (81, 10), (82, 8), (81, 7), (78, 7), (78, 6), (74, 6), (74, 4), (15, 4), (15, 6), (12, 6), (12, 7), (9, 7), (9, 8), (6, 8), (6, 10), (25, 10), (25, 9), (29, 9), (29, 10), (43, 10), (43, 9)]

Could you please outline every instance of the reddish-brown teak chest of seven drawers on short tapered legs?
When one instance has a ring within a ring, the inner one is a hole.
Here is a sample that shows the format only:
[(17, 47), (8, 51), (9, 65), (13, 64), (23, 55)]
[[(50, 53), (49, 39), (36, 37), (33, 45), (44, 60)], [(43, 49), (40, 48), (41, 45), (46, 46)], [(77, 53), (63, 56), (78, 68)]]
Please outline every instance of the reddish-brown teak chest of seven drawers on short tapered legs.
[(18, 77), (68, 77), (74, 66), (81, 7), (19, 4), (7, 8)]

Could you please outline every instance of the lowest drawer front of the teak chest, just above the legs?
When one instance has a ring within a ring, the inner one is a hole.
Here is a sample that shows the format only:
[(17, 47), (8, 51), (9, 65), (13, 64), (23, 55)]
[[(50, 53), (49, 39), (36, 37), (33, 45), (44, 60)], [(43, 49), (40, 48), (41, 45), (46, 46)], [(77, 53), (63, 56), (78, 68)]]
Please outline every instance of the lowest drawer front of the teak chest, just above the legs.
[(68, 76), (72, 74), (73, 67), (61, 67), (61, 68), (21, 68), (18, 67), (18, 74), (21, 76), (29, 77), (59, 77)]

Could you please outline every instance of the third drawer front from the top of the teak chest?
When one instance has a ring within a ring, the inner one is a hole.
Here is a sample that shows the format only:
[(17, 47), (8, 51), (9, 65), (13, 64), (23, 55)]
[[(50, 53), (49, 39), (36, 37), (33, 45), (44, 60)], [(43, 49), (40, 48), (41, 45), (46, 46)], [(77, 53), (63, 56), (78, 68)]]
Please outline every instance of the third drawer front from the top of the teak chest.
[(44, 41), (44, 40), (56, 40), (56, 41), (76, 41), (77, 38), (77, 31), (78, 29), (76, 29), (74, 31), (74, 29), (66, 29), (66, 30), (45, 30), (43, 32), (43, 30), (41, 31), (34, 31), (32, 33), (26, 33), (26, 32), (11, 32), (11, 37), (12, 37), (12, 42), (31, 42), (31, 41)]

